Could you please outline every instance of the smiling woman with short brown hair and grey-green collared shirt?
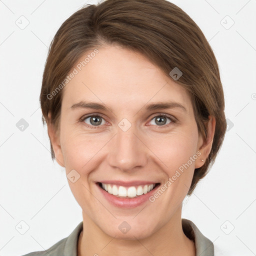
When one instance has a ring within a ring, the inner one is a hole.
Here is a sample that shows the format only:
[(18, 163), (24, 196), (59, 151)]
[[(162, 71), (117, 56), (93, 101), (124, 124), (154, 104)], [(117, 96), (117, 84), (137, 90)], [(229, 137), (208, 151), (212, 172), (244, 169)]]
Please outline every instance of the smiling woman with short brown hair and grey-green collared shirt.
[(214, 255), (181, 207), (222, 144), (224, 98), (184, 11), (165, 0), (76, 11), (51, 43), (40, 103), (83, 221), (26, 255)]

